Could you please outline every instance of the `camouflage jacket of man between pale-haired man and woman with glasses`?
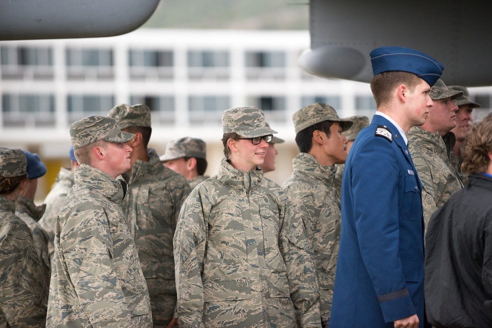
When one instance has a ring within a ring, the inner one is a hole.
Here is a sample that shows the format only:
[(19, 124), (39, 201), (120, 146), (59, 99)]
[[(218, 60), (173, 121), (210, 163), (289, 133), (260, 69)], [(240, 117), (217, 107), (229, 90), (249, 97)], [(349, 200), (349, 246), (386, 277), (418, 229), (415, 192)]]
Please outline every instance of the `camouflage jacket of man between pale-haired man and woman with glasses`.
[(167, 327), (176, 306), (173, 236), (181, 206), (191, 192), (188, 181), (160, 164), (155, 149), (149, 162), (136, 160), (129, 175), (123, 212), (151, 298), (154, 327)]

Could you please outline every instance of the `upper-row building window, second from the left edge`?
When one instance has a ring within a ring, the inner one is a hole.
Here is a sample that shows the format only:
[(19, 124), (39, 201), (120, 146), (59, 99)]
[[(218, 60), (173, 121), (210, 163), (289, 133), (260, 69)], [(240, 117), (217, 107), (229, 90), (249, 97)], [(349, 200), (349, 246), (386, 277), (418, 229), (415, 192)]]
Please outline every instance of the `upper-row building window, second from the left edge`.
[(68, 48), (65, 55), (68, 79), (107, 80), (114, 77), (111, 49)]

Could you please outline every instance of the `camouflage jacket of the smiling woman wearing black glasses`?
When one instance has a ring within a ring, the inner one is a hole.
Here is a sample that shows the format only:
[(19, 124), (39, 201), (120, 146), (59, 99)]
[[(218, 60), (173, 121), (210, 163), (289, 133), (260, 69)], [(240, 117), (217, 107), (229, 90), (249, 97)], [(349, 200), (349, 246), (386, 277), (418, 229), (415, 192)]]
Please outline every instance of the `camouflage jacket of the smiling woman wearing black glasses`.
[(306, 231), (263, 171), (222, 159), (184, 202), (174, 258), (186, 327), (320, 327)]

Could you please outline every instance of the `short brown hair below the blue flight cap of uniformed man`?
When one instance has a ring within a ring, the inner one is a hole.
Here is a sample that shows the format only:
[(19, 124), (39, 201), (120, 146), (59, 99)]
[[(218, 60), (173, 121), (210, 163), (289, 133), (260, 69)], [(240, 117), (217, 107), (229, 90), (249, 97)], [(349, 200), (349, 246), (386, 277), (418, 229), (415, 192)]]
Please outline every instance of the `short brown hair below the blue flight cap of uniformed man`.
[(376, 107), (389, 103), (393, 90), (400, 84), (404, 84), (413, 92), (422, 81), (417, 75), (408, 72), (389, 71), (377, 74), (370, 81), (370, 89), (376, 101)]

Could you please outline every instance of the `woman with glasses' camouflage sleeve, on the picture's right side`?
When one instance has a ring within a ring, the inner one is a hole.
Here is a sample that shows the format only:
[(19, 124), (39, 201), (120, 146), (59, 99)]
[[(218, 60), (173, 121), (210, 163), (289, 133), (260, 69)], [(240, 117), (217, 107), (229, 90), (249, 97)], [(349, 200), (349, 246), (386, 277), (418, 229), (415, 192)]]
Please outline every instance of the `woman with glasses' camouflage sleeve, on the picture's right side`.
[(292, 218), (291, 208), (287, 202), (280, 213), (281, 216), (283, 214), (283, 223), (279, 237), (280, 252), (287, 267), (290, 296), (302, 327), (321, 327), (316, 268), (308, 251), (306, 229), (301, 220)]

